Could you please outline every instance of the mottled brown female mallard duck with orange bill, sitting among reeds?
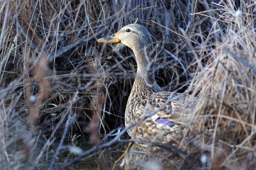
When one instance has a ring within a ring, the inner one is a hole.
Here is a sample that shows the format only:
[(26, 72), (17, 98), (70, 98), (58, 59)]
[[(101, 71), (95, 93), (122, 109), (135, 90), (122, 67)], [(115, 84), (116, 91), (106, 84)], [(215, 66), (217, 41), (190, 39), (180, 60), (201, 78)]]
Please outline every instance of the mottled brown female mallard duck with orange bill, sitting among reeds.
[[(166, 143), (177, 135), (179, 125), (175, 118), (193, 111), (196, 98), (161, 91), (152, 69), (152, 38), (148, 30), (139, 24), (122, 27), (115, 35), (100, 38), (100, 43), (122, 43), (133, 50), (138, 65), (136, 78), (125, 109), (125, 127), (143, 120), (127, 132), (132, 139)], [(146, 117), (145, 117), (146, 116)]]

